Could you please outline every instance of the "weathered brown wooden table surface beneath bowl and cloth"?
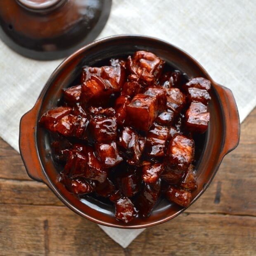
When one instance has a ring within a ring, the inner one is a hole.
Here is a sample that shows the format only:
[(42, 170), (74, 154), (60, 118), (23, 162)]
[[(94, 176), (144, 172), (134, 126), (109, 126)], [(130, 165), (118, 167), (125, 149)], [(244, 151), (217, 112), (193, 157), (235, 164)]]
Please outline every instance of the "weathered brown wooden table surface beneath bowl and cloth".
[(256, 109), (206, 192), (123, 249), (31, 180), (0, 140), (0, 255), (256, 255)]

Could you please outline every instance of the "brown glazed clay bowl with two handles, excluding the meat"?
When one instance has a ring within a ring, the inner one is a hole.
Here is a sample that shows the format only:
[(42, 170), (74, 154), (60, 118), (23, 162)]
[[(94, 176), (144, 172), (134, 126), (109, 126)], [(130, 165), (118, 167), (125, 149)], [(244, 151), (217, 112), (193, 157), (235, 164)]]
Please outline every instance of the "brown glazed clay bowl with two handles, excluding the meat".
[(201, 147), (201, 156), (196, 164), (198, 187), (192, 193), (192, 203), (196, 201), (211, 183), (220, 163), (228, 152), (239, 143), (240, 124), (237, 106), (232, 92), (211, 79), (204, 68), (190, 55), (179, 48), (146, 36), (118, 35), (97, 40), (66, 58), (50, 76), (39, 95), (35, 106), (20, 121), (19, 148), (28, 175), (45, 183), (71, 210), (98, 224), (116, 228), (146, 228), (171, 220), (185, 210), (162, 199), (149, 218), (136, 218), (124, 224), (114, 218), (113, 206), (92, 197), (78, 199), (69, 193), (58, 181), (50, 149), (49, 134), (38, 125), (40, 116), (55, 107), (62, 95), (62, 88), (72, 85), (80, 76), (84, 65), (112, 57), (131, 55), (137, 50), (148, 50), (168, 64), (187, 73), (189, 78), (202, 76), (211, 81), (211, 120)]

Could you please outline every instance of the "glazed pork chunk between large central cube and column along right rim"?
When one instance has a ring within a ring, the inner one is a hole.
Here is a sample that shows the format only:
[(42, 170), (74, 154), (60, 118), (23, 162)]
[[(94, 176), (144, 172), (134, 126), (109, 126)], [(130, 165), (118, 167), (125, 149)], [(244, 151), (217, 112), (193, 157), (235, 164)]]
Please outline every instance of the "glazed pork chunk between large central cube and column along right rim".
[(178, 114), (186, 103), (186, 96), (178, 88), (166, 89), (167, 92), (167, 109)]

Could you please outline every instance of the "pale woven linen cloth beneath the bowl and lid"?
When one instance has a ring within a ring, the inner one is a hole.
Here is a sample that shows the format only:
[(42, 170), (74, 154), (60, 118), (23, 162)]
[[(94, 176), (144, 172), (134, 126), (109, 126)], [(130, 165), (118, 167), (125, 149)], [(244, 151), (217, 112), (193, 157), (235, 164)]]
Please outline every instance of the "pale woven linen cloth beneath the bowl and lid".
[[(142, 34), (180, 47), (232, 90), (243, 121), (256, 106), (255, 17), (255, 0), (114, 0), (98, 38)], [(0, 136), (17, 151), (19, 120), (61, 61), (31, 60), (0, 41)], [(100, 227), (124, 248), (143, 231)]]

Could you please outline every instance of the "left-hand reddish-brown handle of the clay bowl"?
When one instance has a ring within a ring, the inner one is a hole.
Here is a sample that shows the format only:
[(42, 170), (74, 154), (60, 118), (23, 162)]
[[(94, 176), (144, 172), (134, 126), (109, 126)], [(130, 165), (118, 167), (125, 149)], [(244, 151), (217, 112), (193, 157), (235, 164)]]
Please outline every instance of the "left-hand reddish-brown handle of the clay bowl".
[(28, 176), (47, 183), (36, 149), (36, 120), (40, 102), (21, 117), (19, 123), (19, 151)]

